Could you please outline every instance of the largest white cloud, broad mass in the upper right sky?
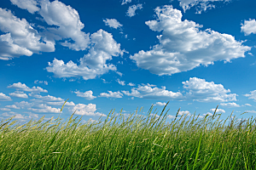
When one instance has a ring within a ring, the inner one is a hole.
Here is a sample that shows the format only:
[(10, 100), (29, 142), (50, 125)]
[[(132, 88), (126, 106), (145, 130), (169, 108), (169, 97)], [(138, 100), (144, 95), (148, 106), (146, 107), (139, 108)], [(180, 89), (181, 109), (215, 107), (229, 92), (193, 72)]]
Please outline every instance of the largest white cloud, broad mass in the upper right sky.
[(162, 32), (159, 44), (149, 51), (139, 51), (130, 56), (138, 67), (153, 74), (172, 75), (190, 71), (214, 61), (245, 57), (250, 47), (241, 45), (235, 37), (207, 29), (201, 31), (194, 21), (182, 20), (183, 14), (172, 6), (155, 9), (157, 19), (146, 21), (152, 31)]

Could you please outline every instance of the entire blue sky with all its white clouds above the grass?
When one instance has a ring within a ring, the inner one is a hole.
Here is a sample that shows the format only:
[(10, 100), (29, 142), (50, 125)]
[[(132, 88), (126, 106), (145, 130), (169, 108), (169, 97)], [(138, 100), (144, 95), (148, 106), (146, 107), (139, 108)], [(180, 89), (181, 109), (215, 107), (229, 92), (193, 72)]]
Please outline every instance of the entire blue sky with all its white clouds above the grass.
[[(256, 114), (254, 0), (2, 0), (0, 118)], [(241, 117), (241, 116), (240, 116)]]

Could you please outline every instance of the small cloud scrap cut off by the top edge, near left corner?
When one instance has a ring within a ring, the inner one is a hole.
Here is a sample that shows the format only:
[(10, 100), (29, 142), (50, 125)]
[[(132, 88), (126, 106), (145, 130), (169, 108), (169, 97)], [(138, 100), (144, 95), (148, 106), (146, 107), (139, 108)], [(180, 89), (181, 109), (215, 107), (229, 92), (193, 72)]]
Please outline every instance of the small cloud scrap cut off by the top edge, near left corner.
[(10, 0), (13, 4), (17, 5), (19, 8), (27, 9), (28, 12), (34, 14), (40, 8), (38, 8), (37, 0)]

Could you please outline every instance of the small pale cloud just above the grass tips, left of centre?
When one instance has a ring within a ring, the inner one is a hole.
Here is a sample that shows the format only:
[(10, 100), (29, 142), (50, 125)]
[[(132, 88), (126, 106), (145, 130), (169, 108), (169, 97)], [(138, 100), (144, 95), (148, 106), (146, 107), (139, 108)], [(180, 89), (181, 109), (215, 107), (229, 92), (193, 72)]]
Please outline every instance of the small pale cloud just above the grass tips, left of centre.
[(85, 115), (85, 116), (106, 116), (105, 114), (96, 112), (96, 105), (94, 104), (78, 104), (73, 107), (73, 109), (70, 109), (70, 111), (75, 112), (75, 115)]

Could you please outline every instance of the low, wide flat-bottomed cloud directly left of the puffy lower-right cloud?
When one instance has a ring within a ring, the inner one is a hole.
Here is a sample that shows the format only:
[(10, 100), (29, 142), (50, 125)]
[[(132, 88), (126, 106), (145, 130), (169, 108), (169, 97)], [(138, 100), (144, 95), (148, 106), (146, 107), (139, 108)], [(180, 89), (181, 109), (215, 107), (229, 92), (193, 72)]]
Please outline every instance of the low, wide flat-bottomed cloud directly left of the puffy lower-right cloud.
[(161, 88), (152, 88), (155, 85), (138, 85), (138, 88), (131, 88), (129, 91), (122, 91), (125, 95), (134, 96), (143, 99), (183, 99), (183, 94), (180, 92), (174, 93), (166, 90), (165, 86)]

